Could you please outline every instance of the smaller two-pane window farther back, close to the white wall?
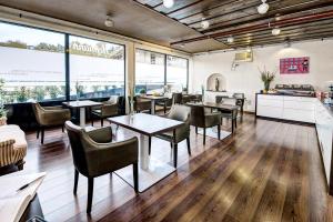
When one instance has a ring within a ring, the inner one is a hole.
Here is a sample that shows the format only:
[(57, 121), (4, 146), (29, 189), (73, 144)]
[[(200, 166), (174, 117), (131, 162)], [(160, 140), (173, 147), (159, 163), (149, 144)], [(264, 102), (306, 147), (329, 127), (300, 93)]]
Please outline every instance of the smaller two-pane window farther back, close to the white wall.
[(173, 92), (188, 88), (188, 59), (137, 49), (135, 93), (162, 93), (164, 85)]

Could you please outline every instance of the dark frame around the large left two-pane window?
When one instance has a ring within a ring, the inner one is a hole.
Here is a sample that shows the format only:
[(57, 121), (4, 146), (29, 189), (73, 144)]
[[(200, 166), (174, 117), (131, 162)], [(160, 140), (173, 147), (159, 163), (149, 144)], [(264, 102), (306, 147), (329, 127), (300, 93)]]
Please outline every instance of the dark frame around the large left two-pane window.
[[(16, 22), (11, 22), (11, 21), (4, 21), (2, 19), (0, 19), (0, 23), (6, 23), (6, 24), (10, 24), (10, 26), (17, 26), (17, 27), (24, 27), (24, 28), (29, 28), (29, 29), (37, 29), (37, 30), (41, 30), (41, 31), (48, 31), (48, 32), (53, 32), (53, 33), (59, 33), (59, 34), (63, 34), (64, 39), (63, 39), (63, 46), (64, 46), (64, 82), (65, 82), (65, 99), (64, 100), (48, 100), (48, 101), (40, 101), (40, 102), (67, 102), (67, 101), (71, 101), (70, 100), (70, 50), (69, 50), (69, 39), (70, 37), (79, 37), (79, 38), (85, 38), (85, 39), (90, 39), (90, 40), (94, 40), (94, 41), (101, 41), (101, 42), (105, 42), (105, 43), (111, 43), (111, 44), (118, 44), (123, 47), (123, 65), (124, 65), (124, 73), (123, 73), (123, 83), (124, 83), (124, 88), (123, 88), (123, 94), (125, 97), (125, 92), (127, 92), (127, 46), (125, 43), (115, 43), (115, 42), (111, 42), (111, 41), (107, 41), (107, 40), (101, 40), (101, 39), (95, 39), (92, 37), (85, 37), (85, 36), (80, 36), (80, 34), (72, 34), (70, 32), (62, 32), (62, 31), (56, 31), (52, 29), (47, 29), (47, 28), (41, 28), (41, 27), (33, 27), (30, 24), (22, 24), (22, 23), (16, 23)], [(102, 99), (102, 98), (92, 98), (92, 99)], [(22, 103), (31, 103), (31, 102), (12, 102), (12, 103), (8, 103), (8, 104), (22, 104)]]

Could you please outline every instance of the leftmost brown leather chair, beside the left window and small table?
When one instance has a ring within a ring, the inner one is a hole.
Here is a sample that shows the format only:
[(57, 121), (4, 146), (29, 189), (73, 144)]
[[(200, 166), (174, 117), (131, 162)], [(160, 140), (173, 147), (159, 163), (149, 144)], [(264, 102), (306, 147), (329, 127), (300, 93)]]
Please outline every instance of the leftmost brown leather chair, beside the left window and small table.
[(41, 132), (41, 143), (44, 143), (44, 129), (49, 127), (62, 127), (65, 121), (71, 119), (71, 112), (60, 107), (41, 107), (38, 102), (32, 103), (32, 109), (38, 123), (37, 139)]

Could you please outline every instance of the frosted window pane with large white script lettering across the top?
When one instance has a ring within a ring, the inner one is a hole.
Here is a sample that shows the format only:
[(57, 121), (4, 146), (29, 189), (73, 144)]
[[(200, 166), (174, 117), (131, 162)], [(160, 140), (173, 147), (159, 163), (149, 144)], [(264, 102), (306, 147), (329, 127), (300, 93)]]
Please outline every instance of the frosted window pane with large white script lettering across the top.
[(71, 99), (124, 94), (124, 47), (70, 37)]

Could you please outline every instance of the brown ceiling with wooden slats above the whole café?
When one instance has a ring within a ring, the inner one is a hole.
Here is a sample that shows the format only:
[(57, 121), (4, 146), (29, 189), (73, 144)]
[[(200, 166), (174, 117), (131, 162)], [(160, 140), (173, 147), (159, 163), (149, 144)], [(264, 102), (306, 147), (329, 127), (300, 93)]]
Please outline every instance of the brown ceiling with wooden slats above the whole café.
[[(239, 49), (333, 37), (333, 0), (0, 0), (1, 6), (112, 31), (186, 52)], [(107, 28), (107, 14), (114, 28)], [(208, 29), (201, 21), (209, 21)], [(279, 28), (279, 36), (272, 29)], [(229, 43), (228, 37), (234, 41)]]

